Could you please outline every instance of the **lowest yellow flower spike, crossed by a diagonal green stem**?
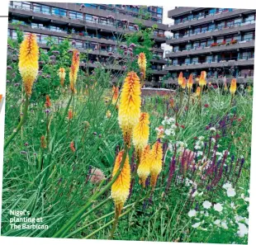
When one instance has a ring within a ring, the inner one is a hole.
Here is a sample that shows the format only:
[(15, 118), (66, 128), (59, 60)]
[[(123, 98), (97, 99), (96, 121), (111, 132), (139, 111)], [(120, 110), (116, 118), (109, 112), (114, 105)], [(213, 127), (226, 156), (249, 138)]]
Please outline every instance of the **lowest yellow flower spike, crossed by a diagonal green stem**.
[[(118, 171), (122, 158), (124, 156), (124, 151), (122, 150), (116, 156), (115, 166), (112, 172), (112, 177), (116, 175)], [(116, 213), (119, 216), (121, 210), (129, 196), (130, 191), (130, 164), (129, 157), (126, 156), (124, 167), (121, 169), (120, 175), (116, 178), (116, 181), (111, 186), (111, 198), (114, 200), (116, 206)]]

